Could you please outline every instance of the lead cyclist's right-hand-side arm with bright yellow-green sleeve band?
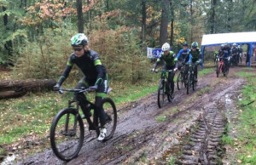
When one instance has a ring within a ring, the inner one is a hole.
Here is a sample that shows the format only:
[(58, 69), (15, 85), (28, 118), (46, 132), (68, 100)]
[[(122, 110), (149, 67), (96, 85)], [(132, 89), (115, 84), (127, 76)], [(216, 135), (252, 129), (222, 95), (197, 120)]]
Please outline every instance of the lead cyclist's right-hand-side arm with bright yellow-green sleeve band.
[(102, 69), (102, 61), (100, 60), (100, 57), (96, 52), (93, 52), (93, 60), (94, 60), (94, 65), (96, 66), (96, 72), (97, 72), (97, 78), (96, 78), (96, 83), (95, 85), (100, 85), (103, 83), (103, 69)]

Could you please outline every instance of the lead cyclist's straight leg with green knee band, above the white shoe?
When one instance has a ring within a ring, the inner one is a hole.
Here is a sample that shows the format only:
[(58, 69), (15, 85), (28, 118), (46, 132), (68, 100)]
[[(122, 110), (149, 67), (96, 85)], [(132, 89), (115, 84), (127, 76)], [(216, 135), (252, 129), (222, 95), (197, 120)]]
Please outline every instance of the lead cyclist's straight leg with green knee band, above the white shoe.
[(108, 92), (108, 75), (103, 79), (103, 83), (99, 85), (96, 90), (96, 113), (100, 118), (101, 128), (104, 128), (106, 122), (106, 114), (102, 106), (102, 100), (106, 97)]

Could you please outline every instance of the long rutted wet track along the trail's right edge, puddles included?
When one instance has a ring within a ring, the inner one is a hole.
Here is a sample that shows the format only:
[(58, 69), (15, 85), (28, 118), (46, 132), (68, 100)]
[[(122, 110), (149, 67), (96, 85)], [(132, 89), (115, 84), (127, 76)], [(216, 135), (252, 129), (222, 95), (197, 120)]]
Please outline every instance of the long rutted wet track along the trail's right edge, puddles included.
[[(219, 93), (211, 94), (209, 104), (204, 105), (203, 113), (198, 117), (195, 125), (192, 125), (191, 133), (184, 135), (183, 143), (172, 146), (166, 155), (176, 155), (175, 164), (222, 164), (225, 148), (222, 145), (222, 136), (225, 134), (225, 126), (230, 117), (228, 112), (237, 113), (235, 105), (230, 104), (231, 97), (239, 94), (244, 80), (237, 78), (218, 90)], [(213, 92), (213, 91), (212, 91)], [(234, 102), (233, 102), (234, 103)], [(182, 153), (178, 156), (172, 150)], [(166, 159), (165, 154), (162, 159)]]

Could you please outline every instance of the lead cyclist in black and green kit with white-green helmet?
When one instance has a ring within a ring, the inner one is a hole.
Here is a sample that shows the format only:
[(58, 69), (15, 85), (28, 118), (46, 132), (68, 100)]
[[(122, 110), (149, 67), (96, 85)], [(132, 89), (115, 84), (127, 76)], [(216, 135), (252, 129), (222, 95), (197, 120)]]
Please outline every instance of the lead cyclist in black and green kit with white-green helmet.
[[(88, 38), (84, 33), (76, 34), (71, 38), (71, 45), (73, 47), (73, 53), (70, 55), (66, 68), (56, 83), (54, 89), (59, 90), (61, 84), (68, 77), (73, 65), (78, 65), (81, 71), (84, 73), (84, 77), (79, 81), (76, 88), (90, 88), (96, 91), (96, 113), (100, 118), (101, 128), (98, 140), (102, 141), (107, 134), (107, 129), (104, 128), (106, 122), (106, 114), (102, 107), (102, 100), (106, 96), (108, 91), (108, 74), (107, 70), (99, 58), (99, 55), (90, 50), (88, 46)], [(83, 93), (75, 94), (74, 100), (79, 101), (82, 111), (84, 111), (85, 117), (90, 117), (90, 111), (86, 111), (85, 101), (86, 97)]]

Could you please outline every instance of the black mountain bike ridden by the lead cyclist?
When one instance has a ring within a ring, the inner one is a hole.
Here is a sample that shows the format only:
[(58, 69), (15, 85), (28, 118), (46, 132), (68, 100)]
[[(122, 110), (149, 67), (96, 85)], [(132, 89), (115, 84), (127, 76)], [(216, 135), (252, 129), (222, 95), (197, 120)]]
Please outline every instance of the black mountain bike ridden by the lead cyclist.
[[(72, 93), (89, 93), (92, 92), (90, 88), (86, 89), (69, 89), (61, 88), (59, 92), (63, 91)], [(110, 90), (108, 90), (108, 93)], [(84, 143), (84, 126), (88, 127), (88, 134), (85, 138), (89, 138), (91, 131), (96, 131), (96, 136), (100, 134), (99, 117), (96, 112), (96, 105), (89, 100), (85, 100), (87, 107), (86, 111), (90, 111), (90, 115), (85, 115), (84, 111), (79, 110), (79, 101), (69, 100), (67, 108), (59, 111), (54, 117), (50, 128), (50, 145), (55, 153), (55, 156), (63, 161), (70, 161), (74, 157), (79, 155)], [(113, 137), (116, 125), (117, 125), (117, 110), (110, 98), (104, 98), (102, 100), (102, 106), (106, 113), (107, 135), (105, 141)], [(84, 117), (88, 123), (83, 122), (81, 115), (84, 113)]]

